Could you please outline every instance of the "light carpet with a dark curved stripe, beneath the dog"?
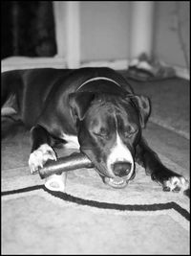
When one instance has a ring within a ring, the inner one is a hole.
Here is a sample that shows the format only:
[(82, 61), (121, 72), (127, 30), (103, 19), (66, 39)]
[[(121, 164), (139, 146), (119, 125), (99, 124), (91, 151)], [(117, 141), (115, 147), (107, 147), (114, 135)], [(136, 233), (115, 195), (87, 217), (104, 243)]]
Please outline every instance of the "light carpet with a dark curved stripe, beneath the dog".
[(3, 254), (189, 254), (189, 198), (162, 192), (140, 166), (125, 189), (80, 169), (68, 173), (65, 193), (52, 192), (30, 174), (29, 153), (28, 132), (2, 144)]

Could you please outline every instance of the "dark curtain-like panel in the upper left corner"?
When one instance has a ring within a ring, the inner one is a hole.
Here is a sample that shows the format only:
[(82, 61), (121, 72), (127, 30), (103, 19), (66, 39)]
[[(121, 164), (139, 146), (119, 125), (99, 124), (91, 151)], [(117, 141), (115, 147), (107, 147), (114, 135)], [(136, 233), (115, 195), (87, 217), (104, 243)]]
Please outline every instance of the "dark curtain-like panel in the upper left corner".
[(55, 54), (52, 1), (1, 1), (1, 58)]

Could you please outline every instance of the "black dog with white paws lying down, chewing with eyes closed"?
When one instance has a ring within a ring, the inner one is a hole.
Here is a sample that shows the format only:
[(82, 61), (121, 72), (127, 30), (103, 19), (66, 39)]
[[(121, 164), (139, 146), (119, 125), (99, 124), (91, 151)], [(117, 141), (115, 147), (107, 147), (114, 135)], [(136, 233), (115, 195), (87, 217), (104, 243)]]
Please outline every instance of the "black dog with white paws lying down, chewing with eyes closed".
[(2, 104), (15, 96), (16, 111), (31, 129), (31, 172), (56, 159), (53, 139), (75, 142), (103, 181), (124, 187), (135, 161), (165, 191), (184, 191), (188, 181), (167, 169), (141, 135), (150, 102), (109, 68), (32, 69), (2, 75)]

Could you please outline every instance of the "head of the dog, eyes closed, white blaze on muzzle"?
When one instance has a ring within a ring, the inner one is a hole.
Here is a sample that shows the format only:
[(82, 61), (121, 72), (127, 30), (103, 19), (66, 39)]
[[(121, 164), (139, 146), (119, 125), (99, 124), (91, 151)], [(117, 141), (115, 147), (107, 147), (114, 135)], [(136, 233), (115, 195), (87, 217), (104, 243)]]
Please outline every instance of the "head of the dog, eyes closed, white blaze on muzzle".
[(80, 151), (94, 163), (105, 183), (126, 186), (135, 176), (136, 146), (150, 114), (148, 98), (76, 92), (69, 103)]

